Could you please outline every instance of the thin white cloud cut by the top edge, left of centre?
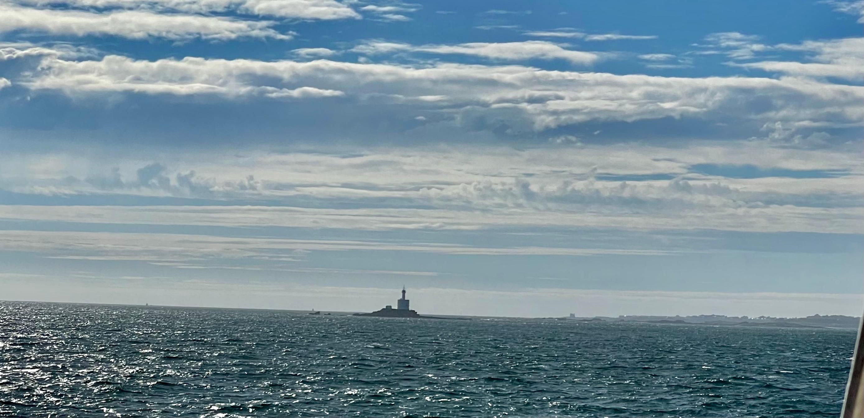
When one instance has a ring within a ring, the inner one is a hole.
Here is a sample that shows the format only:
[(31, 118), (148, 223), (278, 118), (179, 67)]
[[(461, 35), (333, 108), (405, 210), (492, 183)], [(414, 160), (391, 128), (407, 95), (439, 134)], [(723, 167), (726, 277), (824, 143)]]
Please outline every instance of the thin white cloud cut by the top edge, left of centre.
[(17, 3), (61, 5), (77, 9), (138, 9), (154, 12), (223, 13), (280, 18), (334, 20), (362, 16), (335, 0), (17, 0)]

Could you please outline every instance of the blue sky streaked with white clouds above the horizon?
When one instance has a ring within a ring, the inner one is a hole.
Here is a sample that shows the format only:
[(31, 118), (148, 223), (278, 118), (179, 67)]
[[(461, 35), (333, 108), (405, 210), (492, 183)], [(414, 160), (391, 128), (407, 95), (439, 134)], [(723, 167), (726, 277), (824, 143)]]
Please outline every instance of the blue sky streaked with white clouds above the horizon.
[(861, 315), (862, 13), (0, 0), (0, 300)]

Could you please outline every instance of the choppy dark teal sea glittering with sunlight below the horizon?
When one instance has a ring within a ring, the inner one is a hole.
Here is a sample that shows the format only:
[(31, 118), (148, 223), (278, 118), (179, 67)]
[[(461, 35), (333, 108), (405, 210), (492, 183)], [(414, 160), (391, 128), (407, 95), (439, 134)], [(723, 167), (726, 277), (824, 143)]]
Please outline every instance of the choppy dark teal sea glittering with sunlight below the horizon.
[(0, 415), (837, 416), (854, 331), (0, 302)]

